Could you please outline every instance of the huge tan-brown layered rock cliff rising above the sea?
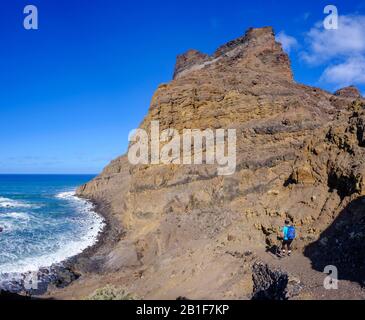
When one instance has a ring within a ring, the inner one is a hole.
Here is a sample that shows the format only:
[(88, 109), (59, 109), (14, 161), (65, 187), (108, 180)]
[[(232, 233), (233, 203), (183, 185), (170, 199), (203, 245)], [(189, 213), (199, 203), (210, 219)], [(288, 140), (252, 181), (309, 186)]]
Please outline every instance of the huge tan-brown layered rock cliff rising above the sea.
[(100, 273), (125, 275), (121, 285), (147, 298), (248, 297), (247, 251), (277, 244), (285, 218), (304, 249), (365, 193), (363, 106), (352, 88), (332, 95), (297, 84), (270, 27), (212, 56), (179, 56), (140, 127), (236, 129), (236, 172), (114, 160), (78, 191), (123, 230), (99, 252)]

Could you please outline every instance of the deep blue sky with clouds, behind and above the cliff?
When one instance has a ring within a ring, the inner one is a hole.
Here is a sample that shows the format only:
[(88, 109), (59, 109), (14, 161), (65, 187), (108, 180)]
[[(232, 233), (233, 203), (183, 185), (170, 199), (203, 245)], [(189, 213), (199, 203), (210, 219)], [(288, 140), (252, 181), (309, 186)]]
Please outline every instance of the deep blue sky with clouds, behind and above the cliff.
[[(39, 30), (23, 28), (28, 4)], [(328, 4), (338, 32), (318, 25)], [(364, 16), (365, 0), (4, 0), (0, 173), (98, 173), (126, 151), (177, 54), (212, 53), (249, 27), (274, 27), (296, 81), (365, 93)]]

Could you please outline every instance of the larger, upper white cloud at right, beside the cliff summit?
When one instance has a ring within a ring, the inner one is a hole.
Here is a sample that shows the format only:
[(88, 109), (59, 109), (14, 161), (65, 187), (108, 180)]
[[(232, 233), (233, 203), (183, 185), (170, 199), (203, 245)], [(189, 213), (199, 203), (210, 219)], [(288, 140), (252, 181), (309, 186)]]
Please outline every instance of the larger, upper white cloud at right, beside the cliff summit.
[(302, 58), (310, 64), (321, 64), (333, 58), (348, 59), (365, 52), (365, 16), (340, 16), (338, 29), (327, 30), (318, 22), (307, 34), (308, 50)]

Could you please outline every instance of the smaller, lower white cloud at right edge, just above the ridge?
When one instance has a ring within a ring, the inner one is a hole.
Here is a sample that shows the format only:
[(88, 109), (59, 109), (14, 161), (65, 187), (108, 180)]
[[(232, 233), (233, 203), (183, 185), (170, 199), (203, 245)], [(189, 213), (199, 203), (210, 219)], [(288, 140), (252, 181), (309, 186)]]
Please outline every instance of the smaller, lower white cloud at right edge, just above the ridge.
[(334, 84), (338, 88), (365, 84), (365, 57), (350, 57), (342, 63), (327, 67), (320, 81)]

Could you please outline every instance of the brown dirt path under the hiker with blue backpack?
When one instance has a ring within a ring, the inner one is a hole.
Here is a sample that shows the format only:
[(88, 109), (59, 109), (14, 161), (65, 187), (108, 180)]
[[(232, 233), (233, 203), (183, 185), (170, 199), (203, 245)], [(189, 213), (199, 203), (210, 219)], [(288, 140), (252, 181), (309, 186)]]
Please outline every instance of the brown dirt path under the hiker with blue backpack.
[(326, 290), (324, 280), (326, 274), (312, 268), (311, 260), (301, 253), (293, 253), (291, 257), (279, 258), (265, 251), (257, 252), (263, 262), (278, 267), (300, 279), (304, 289), (297, 299), (316, 300), (362, 300), (365, 290), (355, 282), (339, 280), (337, 290)]

